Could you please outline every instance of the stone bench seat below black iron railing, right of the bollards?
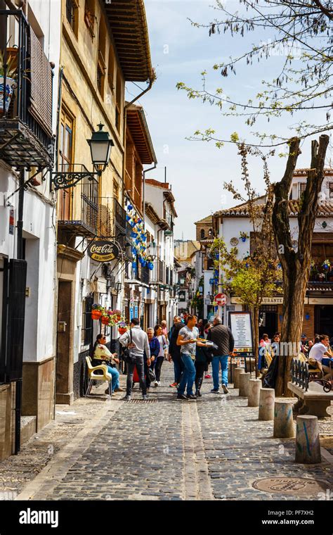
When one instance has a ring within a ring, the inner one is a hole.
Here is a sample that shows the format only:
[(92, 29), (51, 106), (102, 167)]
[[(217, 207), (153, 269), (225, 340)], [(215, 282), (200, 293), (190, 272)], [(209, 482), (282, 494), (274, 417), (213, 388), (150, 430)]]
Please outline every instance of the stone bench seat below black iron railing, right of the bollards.
[(332, 390), (324, 392), (322, 385), (316, 382), (311, 382), (308, 385), (308, 390), (305, 390), (289, 381), (288, 388), (299, 398), (299, 401), (293, 407), (295, 413), (313, 415), (318, 418), (331, 416), (327, 413), (327, 407), (329, 407), (333, 399)]

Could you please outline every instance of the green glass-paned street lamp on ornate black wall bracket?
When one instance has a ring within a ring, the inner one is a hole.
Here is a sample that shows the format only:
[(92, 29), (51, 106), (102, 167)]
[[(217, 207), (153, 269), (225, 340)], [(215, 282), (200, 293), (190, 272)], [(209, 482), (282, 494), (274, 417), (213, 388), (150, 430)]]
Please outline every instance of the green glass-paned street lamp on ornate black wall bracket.
[[(93, 132), (91, 139), (87, 139), (87, 143), (90, 146), (91, 161), (95, 172), (89, 171), (84, 164), (66, 164), (66, 168), (71, 170), (67, 171), (54, 171), (51, 172), (51, 184), (57, 189), (68, 189), (80, 180), (87, 178), (93, 180), (95, 176), (98, 178), (102, 175), (103, 171), (107, 168), (107, 164), (110, 160), (111, 147), (114, 146), (114, 142), (110, 139), (109, 132), (104, 132), (102, 123), (98, 125), (98, 132)], [(77, 167), (81, 170), (77, 170)]]

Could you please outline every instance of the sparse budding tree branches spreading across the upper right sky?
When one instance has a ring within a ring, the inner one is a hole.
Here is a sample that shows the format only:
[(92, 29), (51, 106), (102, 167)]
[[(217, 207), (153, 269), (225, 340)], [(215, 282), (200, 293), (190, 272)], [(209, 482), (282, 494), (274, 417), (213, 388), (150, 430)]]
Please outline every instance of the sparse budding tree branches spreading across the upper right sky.
[[(193, 89), (178, 82), (190, 99), (217, 106), (222, 115), (242, 115), (247, 126), (252, 127), (258, 118), (293, 118), (292, 135), (299, 138), (332, 129), (332, 36), (333, 2), (319, 0), (240, 0), (226, 2), (216, 0), (215, 11), (221, 14), (208, 24), (192, 22), (197, 27), (207, 27), (209, 36), (230, 32), (231, 37), (254, 34), (255, 43), (245, 46), (239, 56), (230, 57), (226, 63), (216, 63), (223, 78), (237, 75), (242, 63), (252, 68), (254, 61), (273, 61), (277, 73), (273, 80), (264, 80), (263, 89), (245, 101), (235, 101), (225, 94), (223, 87), (211, 92), (207, 89), (207, 72), (202, 73), (202, 89)], [(231, 6), (231, 7), (230, 7)], [(235, 6), (235, 7), (234, 7)], [(268, 39), (263, 42), (263, 32)], [(277, 61), (282, 57), (282, 62)], [(282, 64), (281, 64), (282, 63)], [(319, 122), (311, 122), (311, 112), (318, 114)], [(297, 123), (294, 119), (299, 117)], [(218, 147), (224, 142), (237, 143), (240, 136), (230, 133), (221, 139), (212, 129), (195, 132), (192, 139), (214, 140)], [(278, 137), (275, 132), (254, 132), (253, 145), (278, 146), (291, 136)]]

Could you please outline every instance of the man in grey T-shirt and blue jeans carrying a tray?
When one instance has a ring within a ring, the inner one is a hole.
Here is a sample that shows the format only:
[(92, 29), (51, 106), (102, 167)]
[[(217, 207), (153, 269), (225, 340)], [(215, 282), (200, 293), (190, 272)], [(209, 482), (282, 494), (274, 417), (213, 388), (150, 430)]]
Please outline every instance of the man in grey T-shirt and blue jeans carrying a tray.
[(197, 341), (199, 330), (195, 325), (197, 325), (197, 316), (188, 315), (187, 325), (179, 331), (177, 338), (177, 346), (181, 346), (181, 360), (184, 365), (177, 399), (195, 400), (197, 398), (192, 390), (195, 382), (195, 353), (197, 346), (204, 346), (204, 343)]

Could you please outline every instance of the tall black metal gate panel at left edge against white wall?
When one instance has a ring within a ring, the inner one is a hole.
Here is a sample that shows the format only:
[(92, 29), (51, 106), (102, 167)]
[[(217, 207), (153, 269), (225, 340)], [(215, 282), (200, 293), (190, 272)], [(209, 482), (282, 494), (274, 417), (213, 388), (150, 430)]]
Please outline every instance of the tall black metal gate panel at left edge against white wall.
[(27, 262), (4, 260), (0, 383), (22, 379)]

